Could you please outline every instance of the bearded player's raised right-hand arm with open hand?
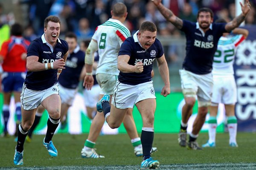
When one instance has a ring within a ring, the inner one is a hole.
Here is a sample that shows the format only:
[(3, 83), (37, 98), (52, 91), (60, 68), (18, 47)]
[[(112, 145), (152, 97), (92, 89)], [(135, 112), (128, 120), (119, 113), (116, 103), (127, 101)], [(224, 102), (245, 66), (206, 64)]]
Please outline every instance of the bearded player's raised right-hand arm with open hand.
[(239, 16), (235, 17), (232, 21), (227, 23), (226, 26), (225, 26), (225, 29), (228, 32), (232, 31), (236, 27), (239, 27), (240, 24), (244, 21), (248, 12), (250, 11), (249, 0), (245, 0), (244, 6), (241, 2), (240, 2), (240, 5), (241, 5), (242, 13)]

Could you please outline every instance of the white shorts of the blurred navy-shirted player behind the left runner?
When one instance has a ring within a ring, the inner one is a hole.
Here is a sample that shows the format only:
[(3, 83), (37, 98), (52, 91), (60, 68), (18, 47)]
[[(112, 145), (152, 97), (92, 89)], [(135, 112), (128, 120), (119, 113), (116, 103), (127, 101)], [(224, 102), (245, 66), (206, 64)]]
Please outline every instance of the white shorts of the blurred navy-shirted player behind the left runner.
[(75, 99), (77, 88), (65, 88), (60, 83), (58, 83), (58, 85), (60, 90), (61, 104), (66, 103), (71, 106)]

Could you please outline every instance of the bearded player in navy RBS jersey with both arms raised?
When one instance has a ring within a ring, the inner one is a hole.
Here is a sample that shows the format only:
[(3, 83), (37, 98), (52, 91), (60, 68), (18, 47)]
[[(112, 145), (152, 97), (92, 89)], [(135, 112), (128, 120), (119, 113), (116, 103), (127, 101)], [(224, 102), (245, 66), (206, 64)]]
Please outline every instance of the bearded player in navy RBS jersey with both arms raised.
[[(201, 150), (196, 139), (204, 125), (208, 106), (212, 96), (212, 62), (217, 49), (218, 40), (224, 32), (230, 32), (238, 27), (250, 11), (249, 0), (241, 5), (242, 13), (229, 23), (212, 23), (213, 12), (209, 8), (201, 8), (198, 11), (197, 23), (181, 20), (171, 10), (163, 6), (161, 0), (152, 0), (163, 16), (178, 29), (186, 34), (186, 57), (183, 69), (180, 70), (181, 88), (185, 98), (182, 108), (182, 120), (178, 142), (180, 146), (192, 150)], [(198, 115), (193, 124), (189, 142), (186, 143), (186, 129), (195, 98), (198, 97)]]

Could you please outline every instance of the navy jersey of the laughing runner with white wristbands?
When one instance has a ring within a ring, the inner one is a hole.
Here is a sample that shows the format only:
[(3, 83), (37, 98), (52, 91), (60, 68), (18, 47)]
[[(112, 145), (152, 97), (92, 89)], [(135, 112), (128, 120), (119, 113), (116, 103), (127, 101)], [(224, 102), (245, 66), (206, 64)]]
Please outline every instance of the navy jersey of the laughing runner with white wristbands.
[[(27, 57), (38, 56), (38, 62), (48, 63), (54, 62), (68, 51), (68, 44), (64, 40), (57, 40), (54, 48), (47, 43), (44, 34), (31, 42), (28, 48)], [(49, 69), (44, 71), (28, 71), (24, 84), (26, 88), (31, 90), (45, 90), (57, 83), (57, 69)]]

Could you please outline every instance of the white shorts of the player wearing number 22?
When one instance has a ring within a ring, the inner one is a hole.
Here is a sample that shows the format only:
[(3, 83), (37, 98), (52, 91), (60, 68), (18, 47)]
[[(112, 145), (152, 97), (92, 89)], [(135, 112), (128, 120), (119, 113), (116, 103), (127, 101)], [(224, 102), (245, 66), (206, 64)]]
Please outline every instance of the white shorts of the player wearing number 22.
[(237, 102), (236, 80), (233, 75), (213, 75), (212, 103), (234, 105)]

